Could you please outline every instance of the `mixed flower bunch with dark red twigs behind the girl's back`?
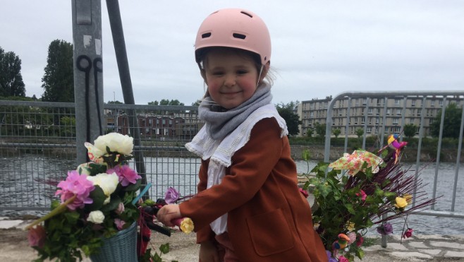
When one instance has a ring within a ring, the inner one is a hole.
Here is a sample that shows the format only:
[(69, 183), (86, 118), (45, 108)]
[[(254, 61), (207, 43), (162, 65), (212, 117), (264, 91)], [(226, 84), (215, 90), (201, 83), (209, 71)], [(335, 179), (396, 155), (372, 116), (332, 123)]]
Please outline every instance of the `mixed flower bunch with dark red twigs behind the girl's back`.
[(408, 214), (435, 203), (419, 191), (422, 181), (401, 167), (398, 152), (404, 145), (394, 152), (389, 147), (377, 153), (355, 150), (335, 162), (320, 162), (305, 174), (308, 180), (302, 191), (311, 186), (315, 196), (312, 220), (329, 261), (362, 258), (367, 230), (377, 226), (380, 234), (391, 234), (393, 219), (403, 219), (402, 237), (410, 237), (413, 229), (407, 227)]

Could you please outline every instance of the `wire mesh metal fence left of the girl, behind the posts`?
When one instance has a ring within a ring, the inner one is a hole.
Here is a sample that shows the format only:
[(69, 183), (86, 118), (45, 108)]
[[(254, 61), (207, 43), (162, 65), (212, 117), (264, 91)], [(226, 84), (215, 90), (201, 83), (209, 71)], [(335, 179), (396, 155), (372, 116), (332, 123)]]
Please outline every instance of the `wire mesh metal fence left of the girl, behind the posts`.
[[(77, 167), (74, 103), (0, 101), (0, 119), (0, 210), (49, 210), (57, 181)], [(201, 126), (197, 107), (104, 105), (104, 133), (140, 133), (142, 157), (129, 165), (144, 167), (155, 199), (169, 186), (195, 193), (200, 160), (184, 144)]]

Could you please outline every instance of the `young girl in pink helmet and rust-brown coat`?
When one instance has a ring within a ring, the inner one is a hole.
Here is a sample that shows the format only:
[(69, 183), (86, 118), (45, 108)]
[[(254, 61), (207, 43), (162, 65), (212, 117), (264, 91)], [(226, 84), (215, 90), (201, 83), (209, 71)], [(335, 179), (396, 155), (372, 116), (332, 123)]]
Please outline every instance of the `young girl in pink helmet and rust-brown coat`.
[(264, 81), (270, 58), (269, 31), (250, 11), (216, 11), (198, 30), (205, 125), (185, 145), (202, 157), (198, 193), (157, 216), (167, 226), (193, 220), (201, 262), (327, 261), (298, 191), (286, 123)]

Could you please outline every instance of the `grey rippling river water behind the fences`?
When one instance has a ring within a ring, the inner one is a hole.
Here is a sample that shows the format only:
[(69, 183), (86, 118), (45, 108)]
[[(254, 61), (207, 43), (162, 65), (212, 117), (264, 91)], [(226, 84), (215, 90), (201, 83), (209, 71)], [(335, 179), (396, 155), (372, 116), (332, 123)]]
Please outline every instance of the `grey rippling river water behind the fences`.
[[(47, 184), (49, 181), (59, 181), (66, 177), (66, 171), (73, 169), (71, 160), (48, 159), (36, 155), (25, 155), (18, 161), (0, 159), (0, 206), (48, 206), (53, 198), (56, 186)], [(317, 165), (317, 162), (297, 161), (298, 173), (307, 173)], [(130, 163), (133, 165), (133, 162)], [(150, 196), (162, 196), (168, 186), (174, 186), (180, 191), (181, 196), (195, 193), (197, 184), (197, 171), (200, 161), (195, 158), (179, 157), (145, 157), (147, 177), (152, 182)], [(415, 166), (403, 163), (403, 168), (409, 169), (409, 175), (415, 175)], [(435, 163), (419, 167), (417, 174), (422, 179), (424, 191), (432, 198), (435, 180)], [(25, 172), (27, 171), (27, 172)], [(439, 197), (435, 210), (449, 211), (453, 199), (453, 185), (455, 180), (455, 165), (441, 163), (436, 179), (436, 197)], [(28, 174), (25, 177), (24, 174)], [(30, 175), (29, 175), (30, 174)], [(42, 177), (41, 177), (42, 174)], [(45, 174), (45, 175), (43, 175)], [(50, 175), (49, 175), (50, 174)], [(53, 175), (55, 174), (55, 175)], [(56, 175), (61, 174), (61, 175)], [(464, 171), (458, 173), (456, 186), (456, 202), (454, 210), (464, 212)], [(18, 215), (43, 215), (44, 211), (12, 211), (0, 210), (0, 216)], [(393, 220), (393, 228), (398, 229), (393, 233), (401, 233), (404, 226), (403, 220)], [(410, 215), (408, 227), (412, 227), (417, 234), (464, 234), (464, 219), (444, 218), (429, 215)]]

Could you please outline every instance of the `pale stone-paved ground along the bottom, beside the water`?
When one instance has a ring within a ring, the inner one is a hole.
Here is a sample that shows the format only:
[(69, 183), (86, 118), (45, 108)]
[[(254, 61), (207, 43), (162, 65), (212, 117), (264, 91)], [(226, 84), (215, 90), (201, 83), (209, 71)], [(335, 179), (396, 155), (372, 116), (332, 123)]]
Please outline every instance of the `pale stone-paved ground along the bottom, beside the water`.
[[(29, 222), (0, 218), (0, 261), (31, 261), (35, 258), (35, 251), (28, 246), (23, 231)], [(197, 262), (195, 234), (176, 232), (171, 238), (162, 235), (152, 237), (155, 248), (166, 242), (170, 243), (171, 251), (162, 256), (164, 261)], [(375, 242), (364, 249), (365, 258), (362, 261), (464, 261), (463, 235), (417, 235), (409, 239), (389, 236), (386, 248), (381, 247), (380, 239)]]

